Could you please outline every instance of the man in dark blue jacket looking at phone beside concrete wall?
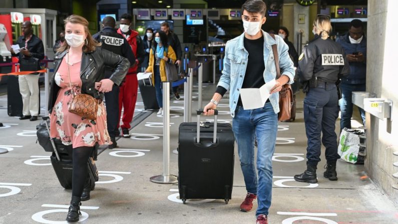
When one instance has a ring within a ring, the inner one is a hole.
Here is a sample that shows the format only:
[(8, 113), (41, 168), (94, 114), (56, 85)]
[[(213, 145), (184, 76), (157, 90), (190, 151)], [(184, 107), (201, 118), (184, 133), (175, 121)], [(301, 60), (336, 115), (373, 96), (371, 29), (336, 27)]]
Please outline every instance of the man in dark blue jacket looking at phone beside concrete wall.
[[(348, 33), (337, 41), (343, 47), (349, 62), (349, 75), (341, 79), (342, 98), (339, 100), (341, 110), (340, 130), (351, 128), (352, 92), (366, 90), (366, 38), (363, 35), (363, 23), (352, 20)], [(359, 109), (362, 123), (365, 125), (365, 111)]]

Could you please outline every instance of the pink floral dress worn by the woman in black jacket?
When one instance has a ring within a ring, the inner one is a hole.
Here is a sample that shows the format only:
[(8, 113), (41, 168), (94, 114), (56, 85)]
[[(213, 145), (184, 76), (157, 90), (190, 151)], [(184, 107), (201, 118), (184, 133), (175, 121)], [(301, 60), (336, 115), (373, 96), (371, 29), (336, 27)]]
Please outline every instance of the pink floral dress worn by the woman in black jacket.
[[(82, 87), (80, 79), (81, 63), (69, 65), (72, 92), (79, 94)], [(50, 116), (50, 136), (61, 139), (64, 145), (73, 145), (73, 148), (81, 146), (94, 146), (112, 143), (107, 128), (107, 115), (104, 104), (98, 106), (96, 120), (82, 119), (77, 114), (68, 111), (68, 104), (72, 101), (72, 93), (69, 85), (68, 66), (65, 58), (55, 74), (55, 83), (61, 87), (58, 92), (53, 112)]]

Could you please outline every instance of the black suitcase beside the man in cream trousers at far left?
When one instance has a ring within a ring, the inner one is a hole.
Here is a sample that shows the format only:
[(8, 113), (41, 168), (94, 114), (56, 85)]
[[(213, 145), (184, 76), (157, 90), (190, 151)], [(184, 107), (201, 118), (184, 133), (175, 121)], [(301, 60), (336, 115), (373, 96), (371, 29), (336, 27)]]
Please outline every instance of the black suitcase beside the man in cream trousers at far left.
[(12, 117), (21, 117), (23, 110), (22, 96), (18, 76), (7, 77), (7, 113)]

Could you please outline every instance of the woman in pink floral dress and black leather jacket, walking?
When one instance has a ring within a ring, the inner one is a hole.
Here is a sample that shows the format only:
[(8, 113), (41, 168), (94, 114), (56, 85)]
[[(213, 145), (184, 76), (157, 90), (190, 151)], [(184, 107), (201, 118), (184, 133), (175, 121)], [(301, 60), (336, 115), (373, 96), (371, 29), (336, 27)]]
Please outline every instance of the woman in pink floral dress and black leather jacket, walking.
[[(73, 147), (72, 200), (66, 220), (76, 222), (81, 215), (80, 201), (93, 146), (96, 143), (112, 143), (102, 103), (104, 93), (110, 92), (113, 85), (122, 83), (130, 63), (119, 55), (99, 48), (101, 44), (91, 37), (89, 23), (85, 18), (72, 15), (64, 22), (66, 43), (57, 50), (54, 57), (55, 75), (50, 87), (50, 136)], [(105, 66), (114, 68), (109, 79), (104, 78)], [(80, 93), (101, 102), (96, 120), (82, 118), (68, 111), (73, 96)], [(85, 190), (84, 200), (90, 199), (90, 189)]]

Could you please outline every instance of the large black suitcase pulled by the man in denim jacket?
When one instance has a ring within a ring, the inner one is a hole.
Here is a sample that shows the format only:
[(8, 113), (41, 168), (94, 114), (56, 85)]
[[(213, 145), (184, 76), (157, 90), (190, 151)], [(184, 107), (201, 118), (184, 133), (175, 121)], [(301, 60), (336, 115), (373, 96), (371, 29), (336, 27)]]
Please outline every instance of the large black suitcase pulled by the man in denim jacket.
[(234, 134), (230, 124), (181, 123), (178, 136), (178, 190), (180, 199), (231, 199)]

